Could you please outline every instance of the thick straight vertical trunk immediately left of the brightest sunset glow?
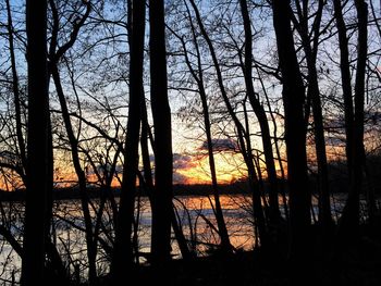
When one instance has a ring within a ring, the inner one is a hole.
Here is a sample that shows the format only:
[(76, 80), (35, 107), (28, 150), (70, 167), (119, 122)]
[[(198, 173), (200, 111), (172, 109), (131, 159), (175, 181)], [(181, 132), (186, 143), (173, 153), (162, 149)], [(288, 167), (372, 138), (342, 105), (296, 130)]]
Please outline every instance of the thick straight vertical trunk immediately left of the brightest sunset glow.
[(164, 1), (149, 1), (151, 109), (155, 129), (151, 254), (153, 268), (171, 259), (172, 132), (167, 87)]

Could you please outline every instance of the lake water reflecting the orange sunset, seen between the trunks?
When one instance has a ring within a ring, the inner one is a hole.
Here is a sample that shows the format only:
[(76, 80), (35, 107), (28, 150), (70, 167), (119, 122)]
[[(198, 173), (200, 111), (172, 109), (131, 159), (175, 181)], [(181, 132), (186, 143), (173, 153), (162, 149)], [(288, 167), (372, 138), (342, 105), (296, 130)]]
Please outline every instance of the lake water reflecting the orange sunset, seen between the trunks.
[[(254, 247), (255, 236), (253, 227), (251, 198), (245, 195), (223, 195), (220, 198), (224, 220), (229, 231), (231, 244), (239, 249)], [(332, 198), (332, 214), (334, 219), (340, 216), (345, 196)], [(317, 199), (312, 200), (312, 216), (318, 215)], [(173, 200), (181, 227), (188, 241), (188, 246), (198, 256), (208, 254), (209, 250), (219, 245), (219, 235), (216, 231), (217, 223), (213, 213), (214, 201), (207, 196), (180, 196)], [(113, 245), (113, 212), (109, 202), (105, 204), (101, 220), (96, 226), (96, 217), (99, 211), (99, 200), (91, 201), (91, 215), (94, 229), (98, 234), (98, 274), (109, 271), (110, 249)], [(282, 200), (280, 198), (280, 206)], [(24, 207), (21, 203), (2, 202), (3, 221), (8, 220), (9, 229), (15, 238), (22, 241), (22, 222)], [(281, 207), (281, 211), (283, 208)], [(85, 224), (79, 200), (61, 200), (54, 202), (52, 220), (52, 240), (56, 244), (67, 272), (73, 273), (74, 268), (79, 266), (81, 273), (87, 272), (87, 253), (85, 243)], [(151, 212), (149, 200), (142, 197), (136, 202), (136, 249), (140, 262), (145, 262), (144, 253), (150, 251)], [(314, 222), (314, 220), (312, 220)], [(21, 260), (8, 241), (0, 237), (0, 281), (7, 284), (11, 281), (12, 272), (20, 276)], [(172, 234), (172, 254), (180, 258), (180, 249), (174, 234)]]

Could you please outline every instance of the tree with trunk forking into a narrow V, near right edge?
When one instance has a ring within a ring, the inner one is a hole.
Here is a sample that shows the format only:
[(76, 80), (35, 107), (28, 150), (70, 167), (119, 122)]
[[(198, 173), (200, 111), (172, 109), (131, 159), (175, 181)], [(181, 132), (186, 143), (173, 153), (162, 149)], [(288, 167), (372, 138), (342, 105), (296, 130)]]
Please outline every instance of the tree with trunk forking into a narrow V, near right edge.
[[(356, 0), (357, 11), (357, 63), (354, 88), (354, 102), (352, 102), (351, 75), (348, 74), (348, 47), (346, 27), (342, 15), (340, 1), (334, 1), (336, 25), (341, 49), (341, 70), (343, 83), (343, 97), (345, 105), (346, 154), (349, 173), (349, 192), (340, 221), (340, 237), (348, 239), (351, 233), (358, 234), (359, 225), (359, 195), (365, 171), (364, 148), (364, 101), (365, 75), (368, 47), (368, 4)], [(353, 105), (354, 103), (354, 105)], [(340, 239), (341, 240), (341, 239)]]

